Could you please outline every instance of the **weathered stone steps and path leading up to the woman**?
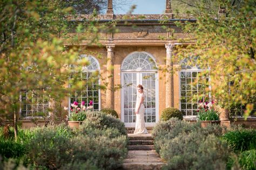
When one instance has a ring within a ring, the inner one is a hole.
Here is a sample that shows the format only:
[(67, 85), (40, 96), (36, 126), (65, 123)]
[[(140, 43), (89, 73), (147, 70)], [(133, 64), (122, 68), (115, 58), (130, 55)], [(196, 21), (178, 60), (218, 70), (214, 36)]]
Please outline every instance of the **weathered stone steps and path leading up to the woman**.
[(123, 169), (161, 169), (165, 162), (154, 150), (152, 128), (149, 134), (133, 134), (134, 128), (126, 128), (129, 138), (128, 155), (124, 160)]

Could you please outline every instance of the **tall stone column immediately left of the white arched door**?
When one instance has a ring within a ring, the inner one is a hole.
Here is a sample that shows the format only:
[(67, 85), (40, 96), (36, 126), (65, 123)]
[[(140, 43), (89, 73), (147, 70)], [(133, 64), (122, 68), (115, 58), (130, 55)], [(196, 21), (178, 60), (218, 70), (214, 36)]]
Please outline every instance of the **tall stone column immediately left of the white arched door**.
[(107, 48), (107, 77), (106, 77), (106, 107), (114, 109), (114, 45), (106, 45)]

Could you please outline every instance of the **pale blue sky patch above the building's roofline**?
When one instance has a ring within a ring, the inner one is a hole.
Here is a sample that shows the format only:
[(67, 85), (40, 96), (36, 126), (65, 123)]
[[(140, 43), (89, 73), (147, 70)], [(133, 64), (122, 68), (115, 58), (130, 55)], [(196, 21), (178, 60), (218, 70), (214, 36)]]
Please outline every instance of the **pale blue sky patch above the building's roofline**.
[(165, 3), (166, 0), (130, 0), (128, 5), (123, 6), (123, 10), (114, 9), (114, 14), (127, 13), (133, 4), (136, 5), (133, 14), (161, 14), (165, 11)]

